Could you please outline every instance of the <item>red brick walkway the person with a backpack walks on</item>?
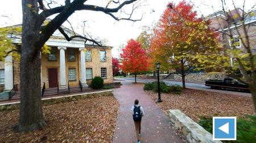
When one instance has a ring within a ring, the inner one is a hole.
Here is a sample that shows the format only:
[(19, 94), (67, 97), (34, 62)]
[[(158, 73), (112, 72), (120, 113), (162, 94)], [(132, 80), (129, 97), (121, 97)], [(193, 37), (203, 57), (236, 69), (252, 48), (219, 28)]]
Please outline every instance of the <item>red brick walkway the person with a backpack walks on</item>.
[(121, 88), (114, 89), (114, 96), (119, 102), (119, 115), (115, 127), (113, 142), (137, 142), (135, 127), (130, 111), (134, 100), (139, 100), (145, 111), (142, 118), (142, 142), (183, 142), (170, 126), (168, 117), (152, 102), (143, 91), (143, 85), (122, 81)]

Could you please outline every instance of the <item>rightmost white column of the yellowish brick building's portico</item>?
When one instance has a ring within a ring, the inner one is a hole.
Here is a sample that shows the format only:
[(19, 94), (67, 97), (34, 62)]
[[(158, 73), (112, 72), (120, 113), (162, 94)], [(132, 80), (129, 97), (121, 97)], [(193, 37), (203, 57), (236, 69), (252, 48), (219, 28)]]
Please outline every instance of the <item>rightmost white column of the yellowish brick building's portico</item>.
[(81, 75), (81, 84), (83, 87), (88, 87), (86, 84), (86, 66), (85, 66), (85, 49), (79, 48), (80, 51), (80, 75)]

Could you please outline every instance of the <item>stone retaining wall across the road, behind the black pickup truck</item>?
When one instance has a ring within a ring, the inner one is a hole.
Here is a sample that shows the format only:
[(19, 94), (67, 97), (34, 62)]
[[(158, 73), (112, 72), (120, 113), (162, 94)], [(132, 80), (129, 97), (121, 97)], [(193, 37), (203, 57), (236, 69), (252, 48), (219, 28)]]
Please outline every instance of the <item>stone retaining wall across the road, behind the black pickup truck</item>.
[[(189, 73), (185, 76), (186, 81), (205, 81), (205, 80), (223, 80), (226, 77), (224, 73)], [(174, 80), (182, 80), (181, 76), (174, 74)]]

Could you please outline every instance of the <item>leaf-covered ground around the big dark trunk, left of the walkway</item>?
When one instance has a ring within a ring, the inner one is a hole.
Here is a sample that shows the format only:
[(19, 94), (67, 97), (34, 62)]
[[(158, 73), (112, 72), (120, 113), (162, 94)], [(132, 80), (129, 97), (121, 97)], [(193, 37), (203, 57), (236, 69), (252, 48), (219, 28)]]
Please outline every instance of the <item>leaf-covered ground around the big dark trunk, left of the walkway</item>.
[(112, 142), (118, 115), (113, 96), (43, 106), (47, 126), (17, 133), (18, 110), (0, 112), (0, 142)]

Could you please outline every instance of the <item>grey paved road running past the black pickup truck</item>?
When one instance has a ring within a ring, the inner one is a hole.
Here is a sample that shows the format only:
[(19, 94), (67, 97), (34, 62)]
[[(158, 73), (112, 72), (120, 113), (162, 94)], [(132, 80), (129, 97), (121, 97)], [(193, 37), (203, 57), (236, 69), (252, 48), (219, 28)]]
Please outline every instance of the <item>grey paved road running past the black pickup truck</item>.
[[(125, 79), (125, 80), (133, 80), (134, 81), (134, 77), (122, 77), (120, 79)], [(152, 81), (156, 81), (154, 79), (138, 79), (137, 78), (137, 82), (139, 83), (148, 83), (148, 82), (152, 82)], [(170, 80), (162, 80), (164, 81), (166, 84), (177, 84), (182, 86), (182, 82), (181, 81), (170, 81)], [(210, 92), (217, 92), (217, 93), (225, 93), (225, 94), (233, 94), (233, 95), (238, 95), (238, 96), (251, 96), (250, 93), (243, 93), (243, 92), (234, 92), (234, 91), (230, 91), (230, 90), (217, 90), (217, 89), (210, 89), (209, 86), (205, 86), (204, 84), (199, 84), (199, 83), (185, 83), (187, 88), (191, 88), (191, 89), (199, 89), (199, 90), (205, 90), (205, 91), (210, 91)]]

